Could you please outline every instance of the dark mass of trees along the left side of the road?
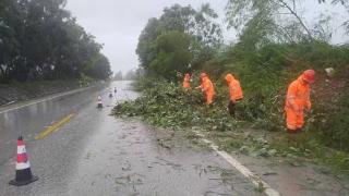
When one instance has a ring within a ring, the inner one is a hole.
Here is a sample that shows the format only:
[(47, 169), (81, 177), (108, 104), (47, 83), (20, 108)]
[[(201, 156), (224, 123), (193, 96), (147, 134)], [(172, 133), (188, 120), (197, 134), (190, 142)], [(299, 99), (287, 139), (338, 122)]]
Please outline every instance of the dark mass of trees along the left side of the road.
[(1, 0), (0, 79), (109, 77), (103, 46), (64, 5), (65, 0)]

